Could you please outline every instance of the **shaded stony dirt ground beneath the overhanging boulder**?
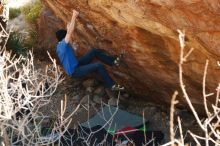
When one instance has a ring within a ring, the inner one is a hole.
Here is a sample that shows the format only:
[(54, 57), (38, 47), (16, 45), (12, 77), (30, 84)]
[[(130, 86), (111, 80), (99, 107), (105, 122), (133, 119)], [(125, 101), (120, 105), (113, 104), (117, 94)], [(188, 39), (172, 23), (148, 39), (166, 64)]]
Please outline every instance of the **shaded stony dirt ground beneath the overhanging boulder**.
[[(38, 68), (45, 67), (47, 62), (36, 63)], [(72, 116), (73, 121), (70, 128), (76, 127), (78, 123), (85, 122), (92, 117), (104, 104), (117, 106), (117, 98), (119, 97), (118, 107), (127, 112), (144, 116), (149, 121), (149, 130), (161, 131), (164, 133), (164, 142), (169, 141), (169, 125), (170, 125), (170, 107), (156, 105), (144, 102), (139, 98), (132, 97), (129, 93), (115, 93), (116, 97), (109, 97), (102, 86), (102, 83), (92, 76), (85, 78), (73, 79), (65, 77), (65, 80), (58, 86), (57, 91), (51, 97), (50, 103), (43, 107), (41, 111), (48, 116), (57, 117), (60, 112), (61, 100), (67, 97), (67, 107), (65, 115), (68, 116), (76, 109), (80, 108)], [(200, 130), (196, 124), (193, 115), (184, 109), (175, 110), (175, 124), (177, 125), (177, 116), (181, 118), (183, 131), (192, 130), (199, 133)], [(175, 126), (175, 129), (177, 126)], [(176, 134), (178, 135), (178, 128)], [(184, 134), (185, 135), (185, 134)], [(187, 139), (187, 136), (186, 136)], [(189, 138), (190, 141), (190, 138)]]

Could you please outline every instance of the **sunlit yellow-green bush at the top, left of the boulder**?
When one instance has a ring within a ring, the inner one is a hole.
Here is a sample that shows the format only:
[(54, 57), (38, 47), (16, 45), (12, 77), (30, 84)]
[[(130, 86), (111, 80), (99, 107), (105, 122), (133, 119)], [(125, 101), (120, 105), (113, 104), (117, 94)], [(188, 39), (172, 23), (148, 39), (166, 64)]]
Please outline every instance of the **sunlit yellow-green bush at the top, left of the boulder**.
[(21, 12), (25, 15), (25, 19), (30, 23), (36, 23), (40, 16), (42, 4), (40, 1), (29, 3), (21, 8)]

